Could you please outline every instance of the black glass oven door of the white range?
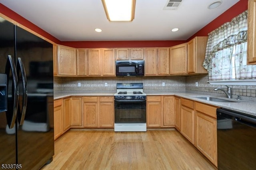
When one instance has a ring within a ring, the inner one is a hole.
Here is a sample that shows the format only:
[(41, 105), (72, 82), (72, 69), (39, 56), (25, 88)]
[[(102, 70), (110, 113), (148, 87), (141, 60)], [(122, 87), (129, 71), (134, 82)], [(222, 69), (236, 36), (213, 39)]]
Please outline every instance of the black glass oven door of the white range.
[(146, 100), (115, 100), (115, 123), (146, 123)]

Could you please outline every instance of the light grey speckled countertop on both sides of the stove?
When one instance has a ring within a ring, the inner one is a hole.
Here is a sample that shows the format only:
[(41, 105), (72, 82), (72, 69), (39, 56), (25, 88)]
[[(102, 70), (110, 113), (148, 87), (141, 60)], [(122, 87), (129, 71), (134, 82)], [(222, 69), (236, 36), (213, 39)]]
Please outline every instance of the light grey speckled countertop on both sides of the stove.
[[(212, 96), (209, 95), (209, 93), (191, 93), (191, 92), (150, 92), (150, 91), (144, 91), (147, 95), (176, 95), (178, 97), (183, 97), (186, 99), (191, 99), (193, 101), (199, 101), (202, 103), (206, 103), (209, 105), (214, 105), (217, 107), (222, 107), (225, 109), (230, 109), (233, 111), (238, 111), (242, 113), (246, 113), (248, 115), (256, 116), (256, 101), (249, 101), (249, 100), (236, 100), (236, 99), (228, 99), (226, 97), (219, 97), (219, 96)], [(62, 92), (62, 93), (54, 93), (54, 100), (61, 99), (65, 97), (70, 96), (113, 96), (114, 91), (110, 92)], [(218, 94), (217, 94), (218, 95)], [(205, 97), (205, 96), (211, 96), (211, 97), (217, 97), (220, 99), (226, 99), (226, 100), (232, 100), (237, 102), (214, 102), (214, 101), (207, 101), (204, 99), (198, 99), (197, 97)]]

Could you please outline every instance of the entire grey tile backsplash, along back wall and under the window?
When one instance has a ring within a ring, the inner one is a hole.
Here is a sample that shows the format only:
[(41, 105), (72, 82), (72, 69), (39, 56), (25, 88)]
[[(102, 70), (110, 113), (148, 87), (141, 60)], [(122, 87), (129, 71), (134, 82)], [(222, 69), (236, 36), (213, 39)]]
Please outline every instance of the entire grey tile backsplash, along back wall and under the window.
[[(205, 92), (226, 97), (226, 95), (216, 87), (225, 88), (222, 85), (210, 85), (208, 75), (194, 76), (162, 76), (162, 77), (54, 77), (54, 92), (59, 91), (111, 91), (116, 92), (116, 83), (143, 83), (144, 91), (191, 91)], [(162, 86), (162, 83), (165, 86)], [(198, 82), (198, 87), (196, 87)], [(81, 87), (78, 87), (81, 83)], [(105, 87), (105, 83), (108, 86)], [(256, 85), (232, 85), (232, 97), (241, 99), (249, 97), (256, 100)]]

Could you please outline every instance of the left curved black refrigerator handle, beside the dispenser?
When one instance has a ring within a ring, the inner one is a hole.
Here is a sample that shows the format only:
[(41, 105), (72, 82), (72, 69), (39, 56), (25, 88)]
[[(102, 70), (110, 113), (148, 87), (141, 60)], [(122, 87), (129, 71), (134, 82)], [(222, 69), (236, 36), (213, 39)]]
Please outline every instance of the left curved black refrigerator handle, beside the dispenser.
[(18, 77), (16, 72), (16, 67), (14, 64), (14, 60), (12, 59), (12, 55), (8, 55), (8, 59), (5, 66), (5, 73), (7, 75), (7, 90), (6, 93), (8, 94), (8, 84), (10, 78), (10, 71), (12, 72), (12, 103), (10, 108), (8, 107), (6, 111), (6, 118), (9, 128), (13, 128), (16, 121), (17, 116), (17, 108), (18, 108), (18, 96), (19, 96), (19, 89), (18, 89)]

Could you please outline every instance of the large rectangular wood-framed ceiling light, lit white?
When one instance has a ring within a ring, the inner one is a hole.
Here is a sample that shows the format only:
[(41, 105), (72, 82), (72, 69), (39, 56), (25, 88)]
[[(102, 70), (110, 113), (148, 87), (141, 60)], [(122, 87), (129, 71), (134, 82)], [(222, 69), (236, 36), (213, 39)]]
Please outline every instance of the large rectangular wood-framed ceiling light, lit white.
[(136, 0), (102, 0), (109, 21), (132, 21)]

